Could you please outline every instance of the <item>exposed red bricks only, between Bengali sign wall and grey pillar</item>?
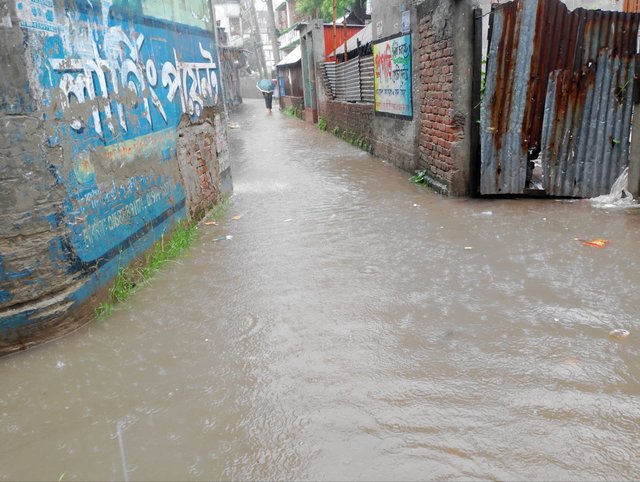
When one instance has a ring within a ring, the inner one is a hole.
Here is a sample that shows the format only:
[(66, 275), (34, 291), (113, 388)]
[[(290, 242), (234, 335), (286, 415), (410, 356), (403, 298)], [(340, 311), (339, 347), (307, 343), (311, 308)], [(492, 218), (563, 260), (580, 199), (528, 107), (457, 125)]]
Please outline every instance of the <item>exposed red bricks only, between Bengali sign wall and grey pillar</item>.
[[(435, 21), (434, 21), (435, 20)], [(434, 13), (420, 19), (420, 169), (447, 192), (454, 173), (452, 147), (463, 129), (454, 114), (454, 37), (450, 23)]]

